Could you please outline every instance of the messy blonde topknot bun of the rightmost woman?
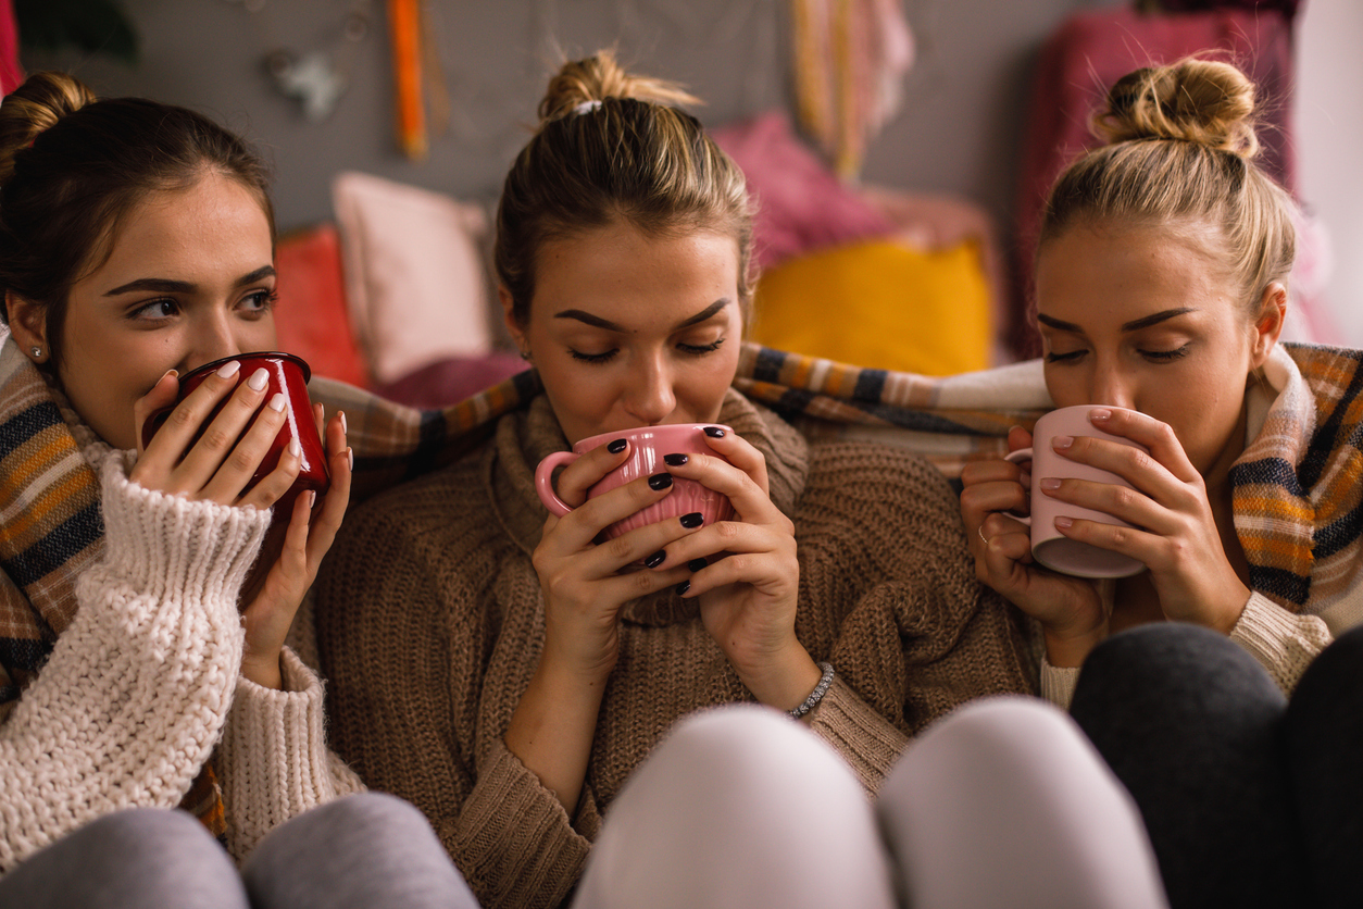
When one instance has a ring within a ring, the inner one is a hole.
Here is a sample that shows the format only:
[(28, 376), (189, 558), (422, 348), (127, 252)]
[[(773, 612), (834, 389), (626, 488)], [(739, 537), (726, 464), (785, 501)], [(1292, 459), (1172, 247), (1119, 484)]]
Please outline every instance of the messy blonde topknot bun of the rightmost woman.
[(1093, 129), (1108, 143), (1183, 139), (1253, 158), (1259, 150), (1253, 114), (1254, 83), (1243, 72), (1187, 59), (1118, 79)]

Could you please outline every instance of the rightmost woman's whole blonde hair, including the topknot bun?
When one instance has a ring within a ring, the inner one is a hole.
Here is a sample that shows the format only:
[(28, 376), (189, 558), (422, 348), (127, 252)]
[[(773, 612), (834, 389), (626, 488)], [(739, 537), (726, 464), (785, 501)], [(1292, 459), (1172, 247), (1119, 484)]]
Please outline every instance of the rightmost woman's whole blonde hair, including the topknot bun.
[(1254, 164), (1254, 83), (1228, 63), (1186, 59), (1127, 74), (1093, 117), (1107, 144), (1051, 188), (1037, 252), (1075, 224), (1169, 228), (1212, 244), (1257, 313), (1264, 289), (1287, 282), (1296, 234), (1292, 199)]

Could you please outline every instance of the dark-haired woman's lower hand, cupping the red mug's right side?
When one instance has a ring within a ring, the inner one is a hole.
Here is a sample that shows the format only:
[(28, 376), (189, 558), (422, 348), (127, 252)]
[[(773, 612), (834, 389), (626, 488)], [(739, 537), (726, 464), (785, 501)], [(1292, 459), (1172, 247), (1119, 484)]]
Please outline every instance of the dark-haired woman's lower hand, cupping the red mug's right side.
[[(312, 405), (318, 432), (327, 443), (331, 482), (313, 508), (316, 493), (300, 493), (288, 523), (278, 517), (260, 548), (251, 581), (241, 593), (245, 646), (241, 675), (266, 688), (281, 688), (279, 653), (304, 594), (318, 576), (322, 557), (331, 548), (346, 506), (350, 503), (350, 450), (345, 439), (345, 414), (337, 412), (323, 425), (320, 403)], [(269, 566), (269, 568), (266, 568)]]

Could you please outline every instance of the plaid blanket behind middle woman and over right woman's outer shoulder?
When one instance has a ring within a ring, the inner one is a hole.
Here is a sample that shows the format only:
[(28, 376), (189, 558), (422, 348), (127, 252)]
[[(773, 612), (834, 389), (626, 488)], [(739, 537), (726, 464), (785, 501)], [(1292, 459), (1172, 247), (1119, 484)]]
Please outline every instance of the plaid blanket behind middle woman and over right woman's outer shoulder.
[[(1363, 623), (1363, 352), (1278, 345), (1262, 428), (1232, 469), (1235, 526), (1250, 586), (1330, 630)], [(950, 481), (972, 458), (1007, 451), (1052, 406), (1041, 363), (932, 378), (744, 345), (735, 387), (811, 437), (912, 448)], [(318, 380), (313, 397), (350, 417), (357, 499), (476, 447), (497, 417), (541, 390), (533, 371), (444, 410), (405, 410)], [(356, 418), (358, 416), (358, 418)], [(958, 482), (955, 482), (958, 485)]]

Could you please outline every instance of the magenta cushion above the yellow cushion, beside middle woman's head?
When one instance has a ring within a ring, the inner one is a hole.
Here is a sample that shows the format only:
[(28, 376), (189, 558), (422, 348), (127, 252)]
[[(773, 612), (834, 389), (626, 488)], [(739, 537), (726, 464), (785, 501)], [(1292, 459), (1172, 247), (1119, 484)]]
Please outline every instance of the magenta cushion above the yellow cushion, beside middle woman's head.
[(773, 110), (710, 135), (743, 169), (758, 203), (756, 259), (762, 267), (894, 232), (889, 218), (792, 134), (784, 113)]

